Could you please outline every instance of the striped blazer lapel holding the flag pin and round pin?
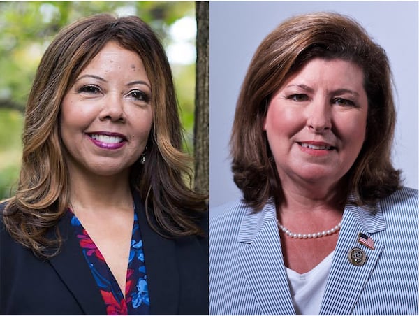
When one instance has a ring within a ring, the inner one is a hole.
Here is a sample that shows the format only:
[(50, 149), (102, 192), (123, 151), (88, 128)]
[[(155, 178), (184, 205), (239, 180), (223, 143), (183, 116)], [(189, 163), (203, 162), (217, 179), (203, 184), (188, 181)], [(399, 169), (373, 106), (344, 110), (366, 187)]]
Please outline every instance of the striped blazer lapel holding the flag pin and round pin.
[[(378, 205), (374, 209), (359, 206), (346, 207), (320, 315), (351, 314), (384, 250), (384, 245), (372, 234), (383, 229), (385, 229), (385, 222)], [(360, 233), (372, 236), (374, 250), (358, 243)], [(367, 258), (365, 264), (355, 266), (349, 261), (348, 252), (354, 247), (364, 252)]]

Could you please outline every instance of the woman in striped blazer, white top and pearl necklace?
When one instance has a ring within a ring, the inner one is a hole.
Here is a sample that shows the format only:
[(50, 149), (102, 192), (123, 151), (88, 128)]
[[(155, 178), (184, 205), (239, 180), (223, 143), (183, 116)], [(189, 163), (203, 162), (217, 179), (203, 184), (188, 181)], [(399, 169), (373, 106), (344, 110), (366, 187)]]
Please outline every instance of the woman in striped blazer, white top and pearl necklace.
[(345, 15), (263, 39), (230, 138), (242, 199), (210, 211), (211, 314), (418, 313), (418, 191), (391, 161), (390, 78)]

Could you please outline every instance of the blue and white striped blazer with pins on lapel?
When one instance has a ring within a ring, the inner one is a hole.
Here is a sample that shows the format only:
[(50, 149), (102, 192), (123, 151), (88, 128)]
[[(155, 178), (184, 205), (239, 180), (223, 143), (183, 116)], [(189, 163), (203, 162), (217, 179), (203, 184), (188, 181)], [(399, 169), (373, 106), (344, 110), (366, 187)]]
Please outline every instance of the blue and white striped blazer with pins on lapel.
[[(210, 210), (210, 315), (295, 315), (276, 218), (272, 201), (258, 213), (241, 201)], [(348, 260), (353, 247), (362, 266)], [(346, 205), (320, 314), (418, 315), (418, 191)]]

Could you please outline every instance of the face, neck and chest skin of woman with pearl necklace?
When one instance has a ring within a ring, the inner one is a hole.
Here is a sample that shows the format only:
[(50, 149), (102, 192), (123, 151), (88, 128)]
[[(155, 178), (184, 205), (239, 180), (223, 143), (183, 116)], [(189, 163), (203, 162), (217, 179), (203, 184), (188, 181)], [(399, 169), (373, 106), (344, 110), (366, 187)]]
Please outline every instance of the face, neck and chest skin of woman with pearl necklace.
[[(344, 175), (365, 140), (363, 78), (351, 62), (313, 59), (270, 101), (263, 129), (284, 191), (278, 219), (295, 233), (328, 230), (341, 220)], [(301, 240), (281, 234), (286, 265), (298, 273), (327, 257), (338, 236)]]

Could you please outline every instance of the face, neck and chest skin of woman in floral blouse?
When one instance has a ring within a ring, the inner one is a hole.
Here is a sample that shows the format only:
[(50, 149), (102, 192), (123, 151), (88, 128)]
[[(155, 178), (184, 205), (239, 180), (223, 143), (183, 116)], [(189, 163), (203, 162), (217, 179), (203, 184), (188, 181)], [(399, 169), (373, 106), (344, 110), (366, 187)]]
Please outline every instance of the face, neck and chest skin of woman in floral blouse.
[(151, 97), (142, 59), (109, 42), (76, 78), (61, 105), (71, 208), (123, 294), (133, 227), (128, 175), (152, 128)]

